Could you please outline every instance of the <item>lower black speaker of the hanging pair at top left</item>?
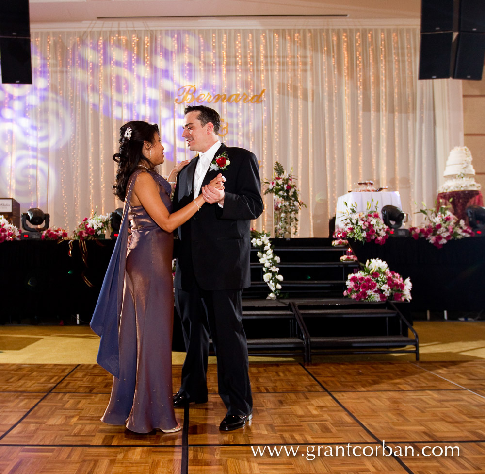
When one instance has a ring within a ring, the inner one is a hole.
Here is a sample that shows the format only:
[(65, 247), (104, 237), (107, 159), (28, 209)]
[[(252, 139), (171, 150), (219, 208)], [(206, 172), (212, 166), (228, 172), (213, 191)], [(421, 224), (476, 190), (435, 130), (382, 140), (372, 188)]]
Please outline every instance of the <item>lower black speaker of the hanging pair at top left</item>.
[(29, 38), (0, 38), (1, 82), (32, 84)]

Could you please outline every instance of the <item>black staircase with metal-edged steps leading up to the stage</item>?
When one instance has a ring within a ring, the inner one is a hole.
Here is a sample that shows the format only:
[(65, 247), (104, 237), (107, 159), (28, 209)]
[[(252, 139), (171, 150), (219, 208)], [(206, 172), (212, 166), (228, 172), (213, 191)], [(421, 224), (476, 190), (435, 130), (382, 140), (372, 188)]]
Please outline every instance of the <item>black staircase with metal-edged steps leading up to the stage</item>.
[[(340, 262), (346, 247), (330, 238), (272, 239), (283, 275), (279, 300), (266, 299), (257, 250), (251, 251), (251, 287), (243, 291), (242, 322), (250, 355), (413, 353), (418, 335), (392, 302), (356, 302), (343, 297), (347, 275), (358, 268)], [(408, 335), (411, 335), (409, 337)]]

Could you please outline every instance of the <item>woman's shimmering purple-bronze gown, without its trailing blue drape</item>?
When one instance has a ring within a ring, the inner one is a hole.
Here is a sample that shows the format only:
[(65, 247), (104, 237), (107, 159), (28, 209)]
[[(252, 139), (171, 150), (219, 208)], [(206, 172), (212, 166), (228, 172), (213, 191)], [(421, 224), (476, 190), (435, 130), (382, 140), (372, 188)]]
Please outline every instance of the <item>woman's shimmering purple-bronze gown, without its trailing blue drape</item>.
[[(171, 186), (160, 175), (150, 174), (171, 212)], [(177, 425), (172, 406), (173, 233), (162, 230), (143, 206), (130, 205), (128, 219), (131, 234), (119, 319), (119, 379), (113, 377), (101, 421), (148, 433)]]

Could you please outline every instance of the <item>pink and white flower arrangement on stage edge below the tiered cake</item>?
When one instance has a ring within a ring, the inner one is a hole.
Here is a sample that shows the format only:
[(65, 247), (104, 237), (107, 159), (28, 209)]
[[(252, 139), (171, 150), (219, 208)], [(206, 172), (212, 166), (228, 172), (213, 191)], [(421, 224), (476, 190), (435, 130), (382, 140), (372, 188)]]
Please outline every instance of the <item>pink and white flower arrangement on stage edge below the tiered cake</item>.
[(416, 240), (424, 237), (440, 249), (451, 239), (473, 236), (471, 227), (465, 224), (463, 219), (458, 220), (445, 206), (441, 206), (437, 211), (424, 208), (420, 209), (420, 212), (425, 215), (424, 223), (420, 227), (409, 229), (411, 237)]

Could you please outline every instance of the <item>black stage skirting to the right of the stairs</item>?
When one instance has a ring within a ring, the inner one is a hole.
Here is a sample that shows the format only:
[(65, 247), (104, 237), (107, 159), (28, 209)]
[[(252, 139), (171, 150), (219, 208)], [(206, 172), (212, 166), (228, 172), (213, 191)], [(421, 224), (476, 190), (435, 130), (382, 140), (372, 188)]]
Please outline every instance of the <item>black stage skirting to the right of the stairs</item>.
[(427, 240), (389, 237), (384, 245), (349, 240), (359, 262), (380, 258), (410, 277), (411, 311), (485, 309), (485, 238), (450, 240), (438, 249)]

